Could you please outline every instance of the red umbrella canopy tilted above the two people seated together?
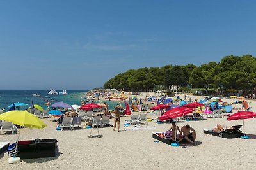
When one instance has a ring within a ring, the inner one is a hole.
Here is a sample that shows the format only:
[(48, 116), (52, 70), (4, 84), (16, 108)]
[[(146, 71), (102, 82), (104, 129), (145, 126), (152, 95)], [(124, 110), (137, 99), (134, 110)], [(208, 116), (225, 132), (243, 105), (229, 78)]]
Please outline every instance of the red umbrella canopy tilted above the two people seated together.
[(179, 107), (172, 108), (171, 110), (166, 111), (161, 117), (159, 117), (160, 121), (168, 120), (170, 118), (182, 117), (183, 115), (187, 115), (188, 113), (192, 113), (193, 108)]

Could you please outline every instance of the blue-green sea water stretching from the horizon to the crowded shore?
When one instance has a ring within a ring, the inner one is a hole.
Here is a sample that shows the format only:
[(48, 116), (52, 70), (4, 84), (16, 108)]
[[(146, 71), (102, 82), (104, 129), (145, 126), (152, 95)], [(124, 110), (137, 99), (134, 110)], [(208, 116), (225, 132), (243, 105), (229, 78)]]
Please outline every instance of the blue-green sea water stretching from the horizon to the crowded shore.
[[(0, 90), (0, 109), (8, 110), (8, 106), (13, 103), (21, 102), (26, 103), (29, 106), (31, 105), (31, 101), (33, 104), (38, 104), (42, 106), (42, 108), (46, 108), (45, 101), (48, 100), (51, 104), (54, 104), (58, 101), (63, 101), (70, 105), (77, 104), (81, 106), (81, 101), (84, 100), (83, 94), (87, 92), (86, 90), (67, 90), (68, 94), (60, 94), (60, 95), (51, 95), (47, 94), (50, 90)], [(56, 90), (57, 92), (63, 92), (63, 90)], [(40, 96), (32, 96), (33, 94), (40, 94)], [(104, 102), (103, 101), (96, 101)], [(117, 102), (106, 101), (109, 105), (109, 109), (114, 108)], [(122, 104), (123, 105), (123, 104)], [(29, 106), (20, 107), (20, 110), (25, 110)]]

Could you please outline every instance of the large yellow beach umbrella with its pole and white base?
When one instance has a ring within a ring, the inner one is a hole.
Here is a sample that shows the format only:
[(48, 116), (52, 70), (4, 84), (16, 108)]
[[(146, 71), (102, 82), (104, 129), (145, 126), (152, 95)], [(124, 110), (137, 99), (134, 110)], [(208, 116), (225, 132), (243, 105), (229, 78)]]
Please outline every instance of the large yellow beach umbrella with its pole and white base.
[[(46, 127), (46, 124), (40, 118), (29, 113), (28, 111), (19, 111), (19, 110), (7, 111), (6, 113), (3, 113), (0, 115), (0, 120), (6, 120), (8, 122), (12, 122), (13, 124), (20, 125), (20, 127), (22, 127), (22, 126), (33, 127), (33, 128), (38, 128), (38, 129), (42, 129), (42, 128)], [(19, 135), (17, 138), (16, 148), (15, 148), (15, 155), (17, 152), (20, 131), (21, 131), (21, 129), (19, 129)], [(20, 162), (20, 158), (19, 157), (10, 157), (8, 159), (8, 162), (13, 162), (13, 161)]]

